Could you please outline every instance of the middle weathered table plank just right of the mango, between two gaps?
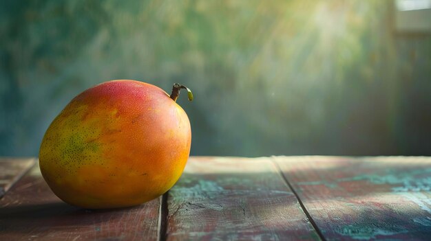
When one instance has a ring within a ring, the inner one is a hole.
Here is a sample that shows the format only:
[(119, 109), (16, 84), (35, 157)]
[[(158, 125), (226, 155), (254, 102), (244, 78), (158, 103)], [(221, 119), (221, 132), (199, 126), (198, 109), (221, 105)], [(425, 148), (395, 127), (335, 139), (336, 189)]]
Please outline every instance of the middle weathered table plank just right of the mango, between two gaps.
[(167, 204), (167, 240), (319, 240), (269, 158), (191, 158)]

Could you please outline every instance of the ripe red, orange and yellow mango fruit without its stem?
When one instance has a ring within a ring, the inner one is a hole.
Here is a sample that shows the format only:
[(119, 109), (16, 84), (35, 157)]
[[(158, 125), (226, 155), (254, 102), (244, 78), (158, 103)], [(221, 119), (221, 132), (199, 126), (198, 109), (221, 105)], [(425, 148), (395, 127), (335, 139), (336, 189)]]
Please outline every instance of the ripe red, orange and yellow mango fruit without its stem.
[(167, 192), (180, 178), (190, 146), (189, 118), (165, 91), (113, 80), (65, 106), (43, 137), (39, 165), (66, 203), (128, 207)]

